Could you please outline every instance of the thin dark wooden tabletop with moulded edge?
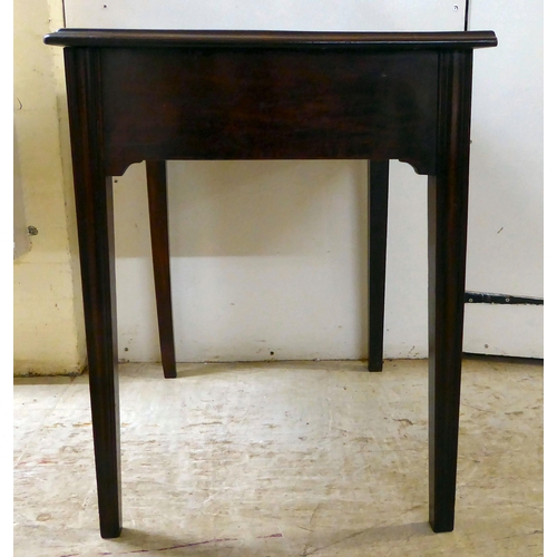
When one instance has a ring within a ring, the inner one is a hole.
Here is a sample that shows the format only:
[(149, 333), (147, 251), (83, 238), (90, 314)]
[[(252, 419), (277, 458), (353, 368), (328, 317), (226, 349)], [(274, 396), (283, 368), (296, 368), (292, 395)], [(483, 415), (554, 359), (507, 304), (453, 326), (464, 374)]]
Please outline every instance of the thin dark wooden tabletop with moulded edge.
[(315, 32), (315, 31), (186, 31), (154, 29), (60, 29), (45, 37), (62, 47), (226, 47), (285, 49), (475, 49), (497, 46), (494, 31)]

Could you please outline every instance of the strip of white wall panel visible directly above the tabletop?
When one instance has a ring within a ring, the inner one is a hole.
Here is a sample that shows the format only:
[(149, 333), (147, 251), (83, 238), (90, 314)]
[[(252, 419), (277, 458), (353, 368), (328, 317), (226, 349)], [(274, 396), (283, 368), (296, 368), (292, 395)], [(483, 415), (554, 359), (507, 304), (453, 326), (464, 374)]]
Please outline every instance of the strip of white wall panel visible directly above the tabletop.
[(67, 27), (302, 31), (462, 30), (465, 0), (66, 0)]

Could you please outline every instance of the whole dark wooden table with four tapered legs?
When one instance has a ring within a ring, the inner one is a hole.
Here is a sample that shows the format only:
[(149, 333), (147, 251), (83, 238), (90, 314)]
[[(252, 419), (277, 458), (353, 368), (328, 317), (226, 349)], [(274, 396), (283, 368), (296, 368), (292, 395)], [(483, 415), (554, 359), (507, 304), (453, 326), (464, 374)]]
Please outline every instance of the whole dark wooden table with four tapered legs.
[[(472, 50), (496, 46), (495, 35), (62, 29), (45, 42), (66, 47), (101, 536), (121, 531), (110, 177), (147, 162), (154, 253), (158, 245), (163, 254), (157, 293), (168, 302), (160, 165), (170, 159), (370, 160), (370, 273), (380, 275), (370, 274), (374, 371), (382, 362), (388, 162), (429, 176), (430, 524), (452, 530)], [(174, 361), (172, 336), (167, 349)]]

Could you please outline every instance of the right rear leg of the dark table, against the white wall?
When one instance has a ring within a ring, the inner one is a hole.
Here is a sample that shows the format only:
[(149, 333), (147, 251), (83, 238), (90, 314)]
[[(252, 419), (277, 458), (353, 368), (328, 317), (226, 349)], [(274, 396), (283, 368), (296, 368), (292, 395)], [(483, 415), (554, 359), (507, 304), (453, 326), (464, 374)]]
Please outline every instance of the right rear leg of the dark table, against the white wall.
[(369, 163), (369, 371), (383, 369), (389, 160)]

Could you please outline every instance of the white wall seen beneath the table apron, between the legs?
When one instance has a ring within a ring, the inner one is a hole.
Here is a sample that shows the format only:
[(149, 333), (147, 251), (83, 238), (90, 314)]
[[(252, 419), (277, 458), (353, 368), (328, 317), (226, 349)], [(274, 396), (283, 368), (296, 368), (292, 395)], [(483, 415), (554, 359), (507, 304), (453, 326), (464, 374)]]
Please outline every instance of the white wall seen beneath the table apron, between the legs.
[[(407, 356), (427, 340), (426, 221), (407, 216), (426, 178), (392, 166), (385, 350)], [(120, 355), (138, 361), (158, 353), (143, 170), (115, 184)], [(169, 206), (178, 360), (365, 358), (365, 163), (174, 163)]]

